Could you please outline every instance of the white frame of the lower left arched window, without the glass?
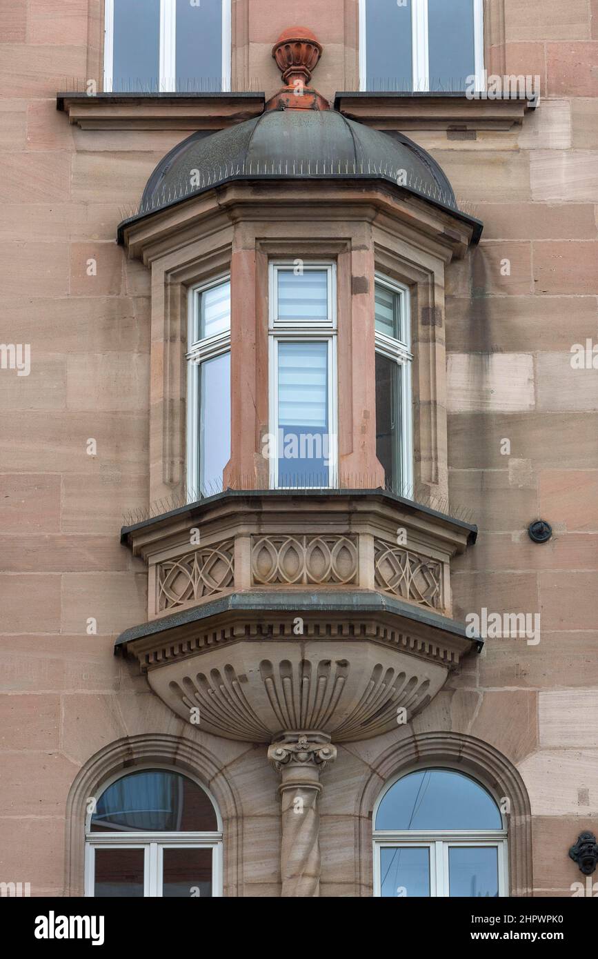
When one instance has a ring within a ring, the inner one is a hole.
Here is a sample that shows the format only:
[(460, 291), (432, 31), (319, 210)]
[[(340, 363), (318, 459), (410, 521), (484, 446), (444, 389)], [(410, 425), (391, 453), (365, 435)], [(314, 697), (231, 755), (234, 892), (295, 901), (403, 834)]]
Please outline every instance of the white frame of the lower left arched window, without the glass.
[(144, 849), (145, 858), (145, 891), (146, 898), (159, 898), (161, 895), (161, 877), (162, 877), (162, 853), (164, 849), (169, 848), (188, 848), (188, 849), (212, 849), (212, 898), (222, 897), (222, 875), (223, 875), (223, 839), (222, 839), (222, 818), (218, 804), (204, 784), (196, 776), (187, 771), (181, 771), (173, 766), (163, 765), (157, 762), (144, 763), (121, 769), (104, 781), (98, 790), (98, 797), (102, 796), (106, 789), (119, 780), (127, 776), (134, 775), (144, 771), (163, 770), (173, 773), (176, 776), (183, 776), (195, 783), (202, 790), (212, 803), (216, 813), (218, 831), (216, 832), (159, 832), (159, 831), (118, 831), (115, 833), (102, 833), (91, 831), (91, 819), (93, 815), (93, 804), (88, 802), (88, 808), (85, 815), (85, 854), (84, 854), (84, 893), (85, 898), (94, 898), (94, 877), (95, 877), (95, 851), (98, 848), (110, 849)]

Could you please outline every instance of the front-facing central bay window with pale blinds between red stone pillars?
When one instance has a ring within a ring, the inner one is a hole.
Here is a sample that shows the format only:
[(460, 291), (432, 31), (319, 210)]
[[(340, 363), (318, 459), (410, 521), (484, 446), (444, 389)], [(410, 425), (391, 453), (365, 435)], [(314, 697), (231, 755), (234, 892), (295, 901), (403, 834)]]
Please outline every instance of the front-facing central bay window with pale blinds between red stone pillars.
[(270, 460), (273, 488), (336, 483), (336, 270), (270, 265)]

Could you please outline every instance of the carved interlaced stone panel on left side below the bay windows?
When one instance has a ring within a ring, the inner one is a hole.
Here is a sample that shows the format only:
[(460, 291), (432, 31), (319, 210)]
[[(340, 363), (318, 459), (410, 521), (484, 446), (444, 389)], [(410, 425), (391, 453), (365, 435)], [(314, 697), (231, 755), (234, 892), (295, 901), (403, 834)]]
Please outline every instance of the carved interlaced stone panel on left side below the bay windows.
[(232, 540), (188, 552), (158, 563), (156, 590), (158, 612), (173, 609), (204, 596), (213, 596), (233, 586), (235, 558)]

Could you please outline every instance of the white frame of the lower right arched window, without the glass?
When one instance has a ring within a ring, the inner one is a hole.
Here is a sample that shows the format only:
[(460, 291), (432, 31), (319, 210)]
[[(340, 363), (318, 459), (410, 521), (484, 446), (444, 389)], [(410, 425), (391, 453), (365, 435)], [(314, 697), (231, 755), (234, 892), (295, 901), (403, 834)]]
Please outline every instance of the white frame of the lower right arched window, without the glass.
[[(471, 779), (481, 789), (487, 792), (494, 800), (500, 812), (503, 828), (501, 830), (377, 830), (376, 821), (380, 804), (387, 792), (415, 772), (426, 770), (446, 769)], [(380, 850), (383, 848), (427, 847), (430, 851), (430, 898), (446, 898), (449, 896), (449, 848), (450, 847), (495, 847), (497, 850), (498, 865), (498, 898), (509, 896), (509, 848), (508, 827), (504, 813), (500, 809), (499, 801), (491, 790), (469, 772), (458, 768), (450, 762), (432, 762), (426, 765), (416, 764), (405, 769), (390, 779), (380, 792), (372, 813), (373, 830), (373, 861), (374, 861), (374, 897), (381, 896), (380, 881)]]

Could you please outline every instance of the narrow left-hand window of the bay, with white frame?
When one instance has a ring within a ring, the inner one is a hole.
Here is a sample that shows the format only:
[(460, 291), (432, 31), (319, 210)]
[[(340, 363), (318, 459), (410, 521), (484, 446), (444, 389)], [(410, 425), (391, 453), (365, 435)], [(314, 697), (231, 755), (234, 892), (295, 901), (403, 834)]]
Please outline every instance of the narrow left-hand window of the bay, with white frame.
[(189, 292), (187, 489), (192, 499), (222, 490), (230, 458), (230, 279)]

